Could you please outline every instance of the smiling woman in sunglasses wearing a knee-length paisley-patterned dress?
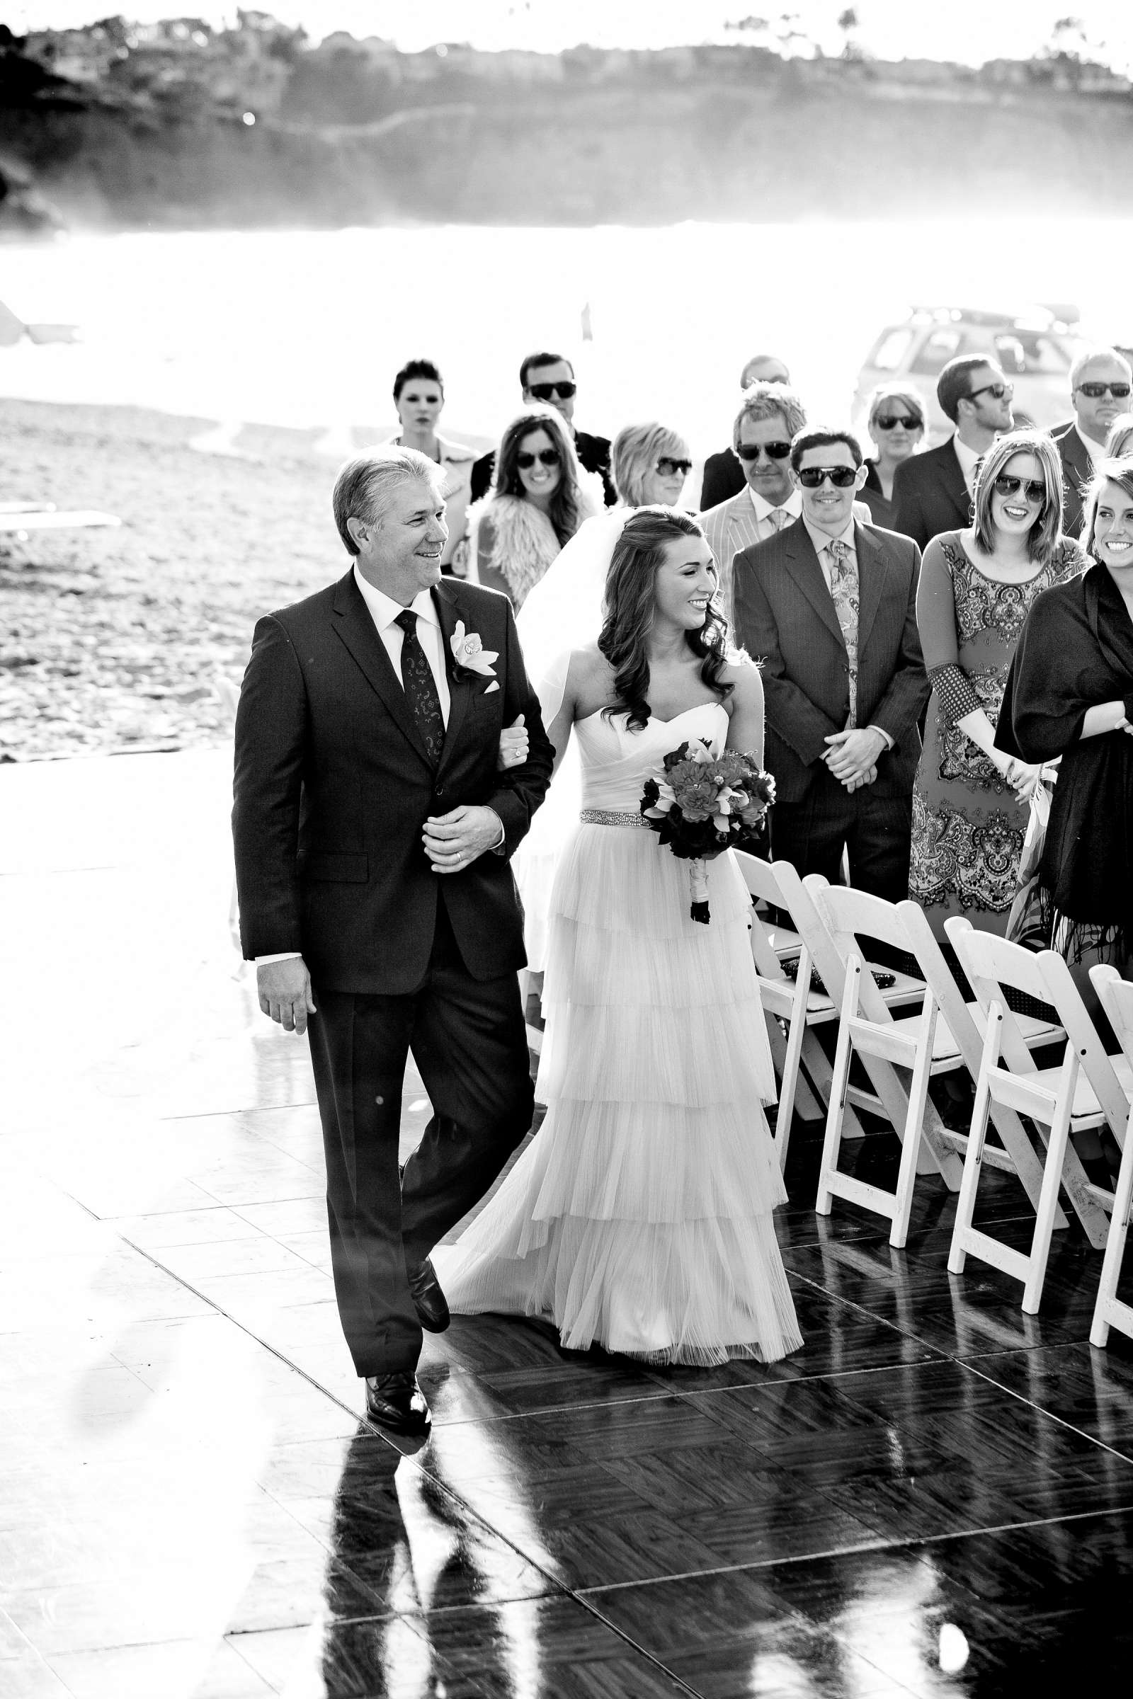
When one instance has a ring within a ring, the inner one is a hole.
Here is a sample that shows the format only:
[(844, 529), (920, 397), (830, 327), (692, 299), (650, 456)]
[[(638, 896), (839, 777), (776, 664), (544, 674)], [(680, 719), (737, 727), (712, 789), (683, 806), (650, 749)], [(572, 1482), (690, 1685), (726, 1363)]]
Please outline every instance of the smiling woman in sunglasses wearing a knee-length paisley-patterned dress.
[(1041, 766), (995, 748), (1007, 668), (1034, 598), (1084, 571), (1062, 535), (1062, 464), (1041, 432), (987, 450), (968, 530), (933, 537), (921, 562), (917, 625), (933, 683), (912, 792), (909, 895), (944, 938), (950, 914), (1002, 933)]

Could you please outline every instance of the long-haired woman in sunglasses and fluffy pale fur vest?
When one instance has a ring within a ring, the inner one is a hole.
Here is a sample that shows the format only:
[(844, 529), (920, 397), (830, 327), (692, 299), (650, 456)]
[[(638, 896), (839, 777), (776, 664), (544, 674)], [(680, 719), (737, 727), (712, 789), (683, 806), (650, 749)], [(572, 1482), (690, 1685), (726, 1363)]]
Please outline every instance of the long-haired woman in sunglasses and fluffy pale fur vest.
[(579, 467), (562, 416), (528, 408), (503, 433), (491, 494), (469, 510), (469, 576), (503, 590), (518, 613), (562, 545), (603, 505), (601, 483)]

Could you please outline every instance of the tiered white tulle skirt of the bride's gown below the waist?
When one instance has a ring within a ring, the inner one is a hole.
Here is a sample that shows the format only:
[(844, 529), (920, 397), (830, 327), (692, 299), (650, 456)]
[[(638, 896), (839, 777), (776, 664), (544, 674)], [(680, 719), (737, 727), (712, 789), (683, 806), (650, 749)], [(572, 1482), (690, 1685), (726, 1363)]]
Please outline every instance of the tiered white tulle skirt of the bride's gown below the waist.
[(652, 833), (581, 826), (555, 875), (542, 1128), (459, 1244), (454, 1312), (537, 1315), (567, 1349), (775, 1361), (800, 1346), (771, 1211), (775, 1075), (730, 856), (712, 923)]

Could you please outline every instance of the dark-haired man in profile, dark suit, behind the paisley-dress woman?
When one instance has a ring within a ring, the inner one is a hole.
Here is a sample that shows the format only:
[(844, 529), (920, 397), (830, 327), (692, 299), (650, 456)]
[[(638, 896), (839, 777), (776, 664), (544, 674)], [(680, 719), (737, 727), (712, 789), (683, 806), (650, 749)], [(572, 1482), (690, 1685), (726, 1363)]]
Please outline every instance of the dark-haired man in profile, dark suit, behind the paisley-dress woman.
[(936, 399), (956, 426), (939, 449), (914, 454), (893, 474), (893, 530), (924, 549), (944, 530), (972, 520), (972, 491), (980, 460), (1011, 430), (1012, 384), (982, 353), (958, 355), (936, 379)]

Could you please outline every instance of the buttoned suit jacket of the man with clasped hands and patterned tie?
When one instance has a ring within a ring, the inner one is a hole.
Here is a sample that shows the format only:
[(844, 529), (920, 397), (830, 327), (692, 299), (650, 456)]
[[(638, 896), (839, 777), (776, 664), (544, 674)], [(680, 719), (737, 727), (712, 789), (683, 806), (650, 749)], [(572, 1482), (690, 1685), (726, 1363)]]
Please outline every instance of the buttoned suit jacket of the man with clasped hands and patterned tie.
[[(917, 634), (921, 550), (909, 537), (854, 522), (858, 552), (858, 722), (880, 725), (878, 797), (907, 797), (921, 756), (917, 715), (929, 681)], [(766, 763), (781, 802), (802, 802), (826, 737), (849, 714), (846, 641), (802, 520), (736, 561), (736, 637), (761, 663)]]

